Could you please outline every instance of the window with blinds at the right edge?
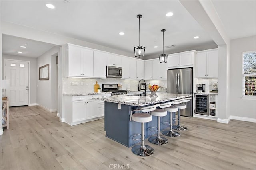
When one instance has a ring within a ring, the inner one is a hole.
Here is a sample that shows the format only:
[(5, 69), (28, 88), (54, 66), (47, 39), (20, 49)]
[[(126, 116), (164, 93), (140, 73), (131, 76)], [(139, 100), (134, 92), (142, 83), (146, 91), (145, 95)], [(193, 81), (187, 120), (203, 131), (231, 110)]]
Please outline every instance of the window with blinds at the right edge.
[(256, 51), (243, 53), (243, 97), (256, 98)]

